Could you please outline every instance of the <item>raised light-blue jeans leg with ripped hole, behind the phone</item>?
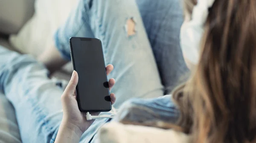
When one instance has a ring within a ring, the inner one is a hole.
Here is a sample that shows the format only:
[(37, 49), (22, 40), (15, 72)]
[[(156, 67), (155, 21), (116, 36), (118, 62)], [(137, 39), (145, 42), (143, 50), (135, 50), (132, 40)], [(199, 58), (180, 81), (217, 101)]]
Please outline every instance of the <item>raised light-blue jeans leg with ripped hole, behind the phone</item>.
[[(131, 19), (132, 18), (132, 19)], [(129, 31), (135, 24), (135, 34)], [(132, 25), (131, 25), (132, 26)], [(128, 29), (128, 31), (126, 31)], [(154, 98), (163, 95), (160, 76), (135, 0), (80, 0), (76, 11), (56, 33), (57, 48), (70, 59), (71, 36), (102, 40), (106, 64), (115, 70), (118, 108), (130, 98)]]

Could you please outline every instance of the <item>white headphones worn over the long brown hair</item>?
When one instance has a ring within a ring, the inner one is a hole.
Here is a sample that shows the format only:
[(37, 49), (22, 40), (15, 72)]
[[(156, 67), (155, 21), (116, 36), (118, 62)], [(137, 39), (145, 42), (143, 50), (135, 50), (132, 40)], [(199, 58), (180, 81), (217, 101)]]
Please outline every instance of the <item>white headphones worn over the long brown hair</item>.
[(212, 7), (214, 1), (199, 0), (196, 6), (194, 6), (195, 3), (185, 4), (184, 22), (180, 30), (180, 46), (189, 69), (198, 63), (201, 38), (209, 14), (208, 8)]

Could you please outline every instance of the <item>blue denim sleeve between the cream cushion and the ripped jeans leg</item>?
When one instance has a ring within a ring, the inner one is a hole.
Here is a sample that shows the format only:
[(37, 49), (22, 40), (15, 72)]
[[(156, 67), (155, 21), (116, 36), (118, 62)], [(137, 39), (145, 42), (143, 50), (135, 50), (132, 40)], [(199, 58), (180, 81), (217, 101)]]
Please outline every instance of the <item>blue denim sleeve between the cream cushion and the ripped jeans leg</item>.
[(133, 98), (126, 101), (119, 109), (114, 121), (163, 121), (175, 123), (179, 117), (178, 109), (172, 102), (171, 95), (152, 99)]

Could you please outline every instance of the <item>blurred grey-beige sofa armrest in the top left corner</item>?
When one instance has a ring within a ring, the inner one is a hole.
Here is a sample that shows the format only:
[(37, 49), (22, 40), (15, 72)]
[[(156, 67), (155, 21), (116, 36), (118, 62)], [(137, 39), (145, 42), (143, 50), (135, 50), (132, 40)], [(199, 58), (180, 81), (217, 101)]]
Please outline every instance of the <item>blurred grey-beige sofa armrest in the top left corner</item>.
[(35, 0), (0, 0), (0, 33), (14, 34), (32, 17)]

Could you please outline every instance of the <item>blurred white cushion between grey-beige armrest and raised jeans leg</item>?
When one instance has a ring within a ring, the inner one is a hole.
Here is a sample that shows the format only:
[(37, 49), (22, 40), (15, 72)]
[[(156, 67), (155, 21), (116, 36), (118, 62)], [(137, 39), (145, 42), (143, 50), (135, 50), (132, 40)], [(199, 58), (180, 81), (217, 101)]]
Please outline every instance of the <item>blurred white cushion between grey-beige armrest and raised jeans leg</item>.
[(35, 14), (18, 34), (10, 36), (10, 43), (20, 53), (38, 56), (51, 44), (52, 37), (65, 22), (77, 0), (35, 0)]

